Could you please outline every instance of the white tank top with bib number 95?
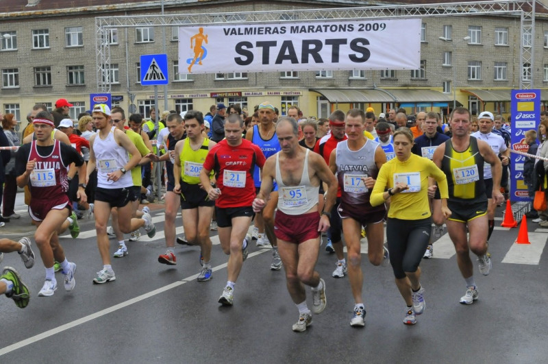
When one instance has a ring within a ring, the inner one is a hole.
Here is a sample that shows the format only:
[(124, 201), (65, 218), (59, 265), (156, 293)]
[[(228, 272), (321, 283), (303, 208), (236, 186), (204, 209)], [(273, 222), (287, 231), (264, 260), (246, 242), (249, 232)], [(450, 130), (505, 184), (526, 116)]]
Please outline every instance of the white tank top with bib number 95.
[(279, 171), (279, 154), (276, 153), (276, 182), (278, 184), (278, 208), (286, 215), (303, 215), (318, 204), (318, 192), (320, 186), (312, 186), (308, 176), (308, 152), (304, 158), (303, 174), (301, 182), (297, 186), (287, 186), (282, 180)]

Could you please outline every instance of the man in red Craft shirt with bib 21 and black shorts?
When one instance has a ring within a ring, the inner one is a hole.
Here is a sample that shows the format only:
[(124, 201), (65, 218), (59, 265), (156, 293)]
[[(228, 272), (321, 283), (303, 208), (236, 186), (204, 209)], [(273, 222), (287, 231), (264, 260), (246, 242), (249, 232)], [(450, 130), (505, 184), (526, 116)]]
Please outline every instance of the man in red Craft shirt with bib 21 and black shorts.
[[(219, 241), (228, 258), (228, 281), (219, 303), (232, 306), (234, 285), (247, 258), (251, 236), (246, 235), (253, 218), (251, 204), (255, 199), (253, 169), (262, 169), (266, 159), (260, 147), (242, 140), (244, 122), (231, 114), (225, 122), (225, 139), (208, 153), (200, 173), (200, 182), (210, 199), (215, 200), (219, 226)], [(210, 184), (210, 172), (215, 172), (216, 187)]]

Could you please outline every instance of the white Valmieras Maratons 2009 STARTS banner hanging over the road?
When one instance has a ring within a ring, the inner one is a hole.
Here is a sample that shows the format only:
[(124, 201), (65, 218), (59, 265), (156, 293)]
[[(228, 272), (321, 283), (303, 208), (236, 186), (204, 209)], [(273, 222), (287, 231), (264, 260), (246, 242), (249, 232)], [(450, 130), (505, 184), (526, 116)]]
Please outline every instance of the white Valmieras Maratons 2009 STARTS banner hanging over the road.
[(420, 69), (421, 19), (179, 27), (179, 73)]

